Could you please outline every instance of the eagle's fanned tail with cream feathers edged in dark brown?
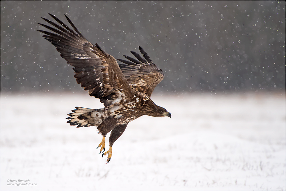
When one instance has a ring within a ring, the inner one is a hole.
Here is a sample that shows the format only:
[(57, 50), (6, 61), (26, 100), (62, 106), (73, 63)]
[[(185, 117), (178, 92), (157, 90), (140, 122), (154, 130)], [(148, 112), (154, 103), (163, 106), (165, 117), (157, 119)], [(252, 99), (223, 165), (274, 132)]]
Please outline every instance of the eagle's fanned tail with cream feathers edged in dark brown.
[(67, 123), (70, 125), (78, 125), (77, 127), (98, 126), (103, 120), (102, 109), (88, 109), (84, 107), (76, 107), (72, 110), (73, 113), (67, 115), (71, 116)]

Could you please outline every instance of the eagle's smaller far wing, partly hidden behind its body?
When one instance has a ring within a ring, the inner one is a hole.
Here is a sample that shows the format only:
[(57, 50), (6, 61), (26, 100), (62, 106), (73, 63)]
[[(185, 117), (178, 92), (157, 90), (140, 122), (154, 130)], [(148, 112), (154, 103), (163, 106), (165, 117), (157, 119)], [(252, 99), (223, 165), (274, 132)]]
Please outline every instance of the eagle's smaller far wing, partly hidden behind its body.
[(131, 62), (122, 59), (117, 60), (124, 63), (119, 63), (119, 66), (130, 87), (150, 97), (156, 85), (163, 80), (164, 73), (158, 66), (153, 64), (143, 48), (139, 46), (139, 50), (144, 58), (136, 52), (131, 51), (138, 60), (125, 55), (123, 56)]

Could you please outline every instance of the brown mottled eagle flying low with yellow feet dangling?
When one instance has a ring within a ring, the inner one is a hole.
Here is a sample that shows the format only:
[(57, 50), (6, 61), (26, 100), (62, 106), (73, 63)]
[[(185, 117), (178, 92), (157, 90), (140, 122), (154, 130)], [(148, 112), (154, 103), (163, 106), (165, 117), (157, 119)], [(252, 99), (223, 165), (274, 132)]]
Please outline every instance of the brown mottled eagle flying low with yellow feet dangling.
[[(48, 40), (61, 53), (67, 64), (74, 68), (74, 77), (90, 96), (100, 99), (104, 104), (101, 109), (88, 109), (76, 107), (67, 117), (70, 125), (77, 127), (96, 126), (102, 135), (98, 145), (100, 153), (107, 156), (107, 163), (111, 159), (112, 145), (122, 135), (128, 123), (149, 115), (153, 117), (170, 117), (171, 114), (163, 107), (156, 105), (150, 96), (158, 83), (164, 78), (162, 69), (158, 68), (148, 54), (139, 46), (142, 54), (131, 53), (136, 59), (123, 55), (127, 60), (116, 59), (106, 53), (96, 43), (92, 45), (78, 31), (72, 21), (65, 15), (74, 30), (54, 15), (49, 15), (58, 23), (41, 17), (49, 25), (38, 23), (50, 31), (37, 30), (43, 33)], [(109, 150), (105, 151), (105, 137), (109, 137)]]

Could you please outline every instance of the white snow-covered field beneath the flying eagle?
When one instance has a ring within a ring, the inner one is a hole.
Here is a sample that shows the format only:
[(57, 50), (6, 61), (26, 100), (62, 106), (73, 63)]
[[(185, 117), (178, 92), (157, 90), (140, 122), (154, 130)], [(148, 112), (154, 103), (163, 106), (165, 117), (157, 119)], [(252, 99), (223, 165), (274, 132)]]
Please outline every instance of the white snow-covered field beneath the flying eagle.
[[(129, 123), (105, 164), (96, 128), (65, 119), (75, 106), (103, 107), (99, 100), (1, 94), (0, 189), (285, 190), (285, 93), (152, 100), (172, 118)], [(7, 185), (19, 179), (37, 185)]]

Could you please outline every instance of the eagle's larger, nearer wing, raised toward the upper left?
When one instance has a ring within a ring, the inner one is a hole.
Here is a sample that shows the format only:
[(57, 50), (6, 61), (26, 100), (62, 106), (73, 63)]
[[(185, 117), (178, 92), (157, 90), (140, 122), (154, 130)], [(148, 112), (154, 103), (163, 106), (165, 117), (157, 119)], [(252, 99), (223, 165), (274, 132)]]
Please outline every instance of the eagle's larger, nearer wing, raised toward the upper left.
[(99, 98), (105, 106), (124, 97), (133, 97), (134, 91), (130, 88), (113, 56), (104, 52), (98, 44), (94, 46), (88, 42), (66, 15), (65, 17), (75, 31), (57, 17), (53, 15), (51, 17), (61, 26), (42, 17), (54, 27), (39, 24), (54, 33), (38, 31), (44, 33), (43, 37), (57, 47), (61, 57), (74, 66), (76, 81), (84, 90), (88, 90), (90, 96)]

